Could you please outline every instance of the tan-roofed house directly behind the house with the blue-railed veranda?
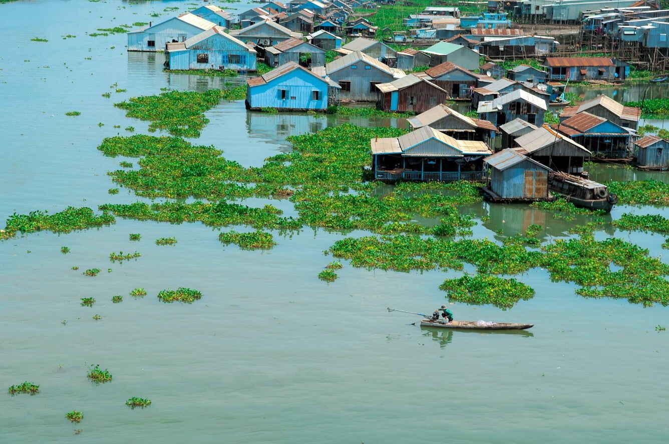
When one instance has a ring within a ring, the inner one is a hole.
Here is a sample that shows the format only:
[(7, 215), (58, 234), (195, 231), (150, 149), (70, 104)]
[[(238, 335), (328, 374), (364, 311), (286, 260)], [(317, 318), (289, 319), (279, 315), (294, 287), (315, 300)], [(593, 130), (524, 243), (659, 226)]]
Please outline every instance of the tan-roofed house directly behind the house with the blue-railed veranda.
[(415, 117), (408, 118), (411, 128), (429, 126), (458, 140), (486, 142), (494, 138), (497, 128), (486, 120), (470, 118), (460, 114), (444, 103), (440, 103)]

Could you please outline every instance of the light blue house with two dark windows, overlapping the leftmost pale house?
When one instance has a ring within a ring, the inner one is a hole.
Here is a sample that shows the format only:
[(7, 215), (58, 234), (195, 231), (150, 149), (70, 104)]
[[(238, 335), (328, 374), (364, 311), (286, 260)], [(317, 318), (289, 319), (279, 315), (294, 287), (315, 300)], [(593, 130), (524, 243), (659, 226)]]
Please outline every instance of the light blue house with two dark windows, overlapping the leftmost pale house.
[(169, 69), (256, 71), (256, 50), (214, 26), (179, 43), (167, 43)]

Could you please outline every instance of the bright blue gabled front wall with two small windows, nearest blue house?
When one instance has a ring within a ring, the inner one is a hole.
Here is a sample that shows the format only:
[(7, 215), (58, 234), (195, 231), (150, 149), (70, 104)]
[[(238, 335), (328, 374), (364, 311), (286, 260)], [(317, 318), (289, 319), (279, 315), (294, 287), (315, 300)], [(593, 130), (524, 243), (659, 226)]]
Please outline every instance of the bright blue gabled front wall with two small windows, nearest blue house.
[[(281, 99), (282, 89), (286, 90), (285, 99)], [(313, 91), (318, 91), (318, 100), (314, 100)], [(249, 87), (246, 101), (251, 108), (325, 109), (328, 107), (328, 84), (302, 69), (294, 69), (269, 83)]]

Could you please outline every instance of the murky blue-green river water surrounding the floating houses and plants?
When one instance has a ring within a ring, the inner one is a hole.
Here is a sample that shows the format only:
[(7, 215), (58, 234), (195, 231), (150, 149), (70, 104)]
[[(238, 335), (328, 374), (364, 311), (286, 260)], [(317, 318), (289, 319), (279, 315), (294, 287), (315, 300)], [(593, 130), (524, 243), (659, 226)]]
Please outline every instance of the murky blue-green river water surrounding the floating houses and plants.
[[(183, 3), (18, 1), (0, 6), (0, 220), (13, 212), (60, 211), (134, 202), (106, 172), (102, 138), (146, 133), (147, 122), (124, 117), (112, 103), (162, 87), (203, 90), (223, 80), (165, 74), (163, 55), (124, 51), (126, 37), (89, 37), (98, 27), (149, 17)], [(231, 3), (236, 12), (248, 9)], [(62, 35), (77, 37), (62, 39)], [(30, 41), (46, 38), (46, 43)], [(112, 49), (113, 47), (113, 49)], [(90, 57), (90, 60), (87, 59)], [(239, 81), (240, 79), (236, 79)], [(110, 85), (118, 84), (110, 88)], [(116, 87), (127, 89), (116, 93)], [(102, 93), (110, 91), (106, 99)], [(81, 116), (64, 116), (79, 111)], [(242, 102), (207, 112), (196, 143), (213, 144), (246, 166), (290, 150), (286, 136), (336, 125), (342, 118), (250, 114)], [(346, 120), (348, 121), (348, 120)], [(402, 120), (351, 119), (363, 125)], [(104, 126), (98, 126), (98, 123)], [(114, 125), (120, 128), (113, 128)], [(135, 162), (135, 160), (130, 160)], [(654, 177), (595, 168), (595, 178)], [(261, 206), (264, 200), (251, 200)], [(273, 201), (286, 214), (287, 201)], [(546, 240), (566, 236), (573, 222), (527, 206), (476, 204), (488, 216), (478, 238), (546, 227)], [(616, 207), (611, 214), (662, 208)], [(244, 228), (240, 228), (244, 230)], [(140, 242), (128, 233), (142, 234)], [(0, 395), (1, 443), (615, 443), (666, 442), (669, 426), (667, 308), (626, 300), (589, 300), (573, 284), (553, 283), (545, 270), (518, 276), (537, 296), (511, 310), (453, 304), (456, 318), (533, 322), (527, 334), (421, 330), (418, 316), (388, 306), (431, 312), (445, 302), (439, 284), (460, 272), (383, 272), (345, 264), (326, 284), (316, 275), (322, 254), (344, 236), (302, 230), (268, 252), (221, 246), (202, 224), (118, 219), (99, 230), (40, 232), (0, 243), (0, 386), (33, 381), (35, 397)], [(157, 246), (175, 236), (175, 246)], [(662, 256), (662, 237), (607, 227)], [(72, 252), (64, 255), (60, 246)], [(112, 251), (142, 253), (111, 264)], [(97, 267), (96, 278), (81, 270)], [(111, 272), (106, 272), (111, 268)], [(466, 267), (472, 271), (472, 267)], [(191, 305), (163, 304), (163, 288), (203, 292)], [(144, 287), (145, 298), (130, 298)], [(116, 294), (124, 295), (112, 304)], [(85, 296), (97, 299), (80, 306)], [(93, 314), (103, 316), (93, 320)], [(66, 321), (66, 322), (62, 322)], [(114, 379), (95, 386), (88, 365)], [(146, 397), (131, 411), (126, 399)], [(84, 413), (79, 425), (65, 418)], [(73, 429), (81, 429), (75, 435)]]

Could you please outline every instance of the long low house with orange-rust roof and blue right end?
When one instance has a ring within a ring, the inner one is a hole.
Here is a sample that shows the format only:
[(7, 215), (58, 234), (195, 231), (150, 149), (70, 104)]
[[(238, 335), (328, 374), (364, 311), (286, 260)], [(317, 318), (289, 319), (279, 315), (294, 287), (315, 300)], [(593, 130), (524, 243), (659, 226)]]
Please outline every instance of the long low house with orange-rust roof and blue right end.
[(628, 63), (610, 57), (546, 57), (550, 80), (624, 80)]

